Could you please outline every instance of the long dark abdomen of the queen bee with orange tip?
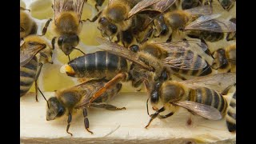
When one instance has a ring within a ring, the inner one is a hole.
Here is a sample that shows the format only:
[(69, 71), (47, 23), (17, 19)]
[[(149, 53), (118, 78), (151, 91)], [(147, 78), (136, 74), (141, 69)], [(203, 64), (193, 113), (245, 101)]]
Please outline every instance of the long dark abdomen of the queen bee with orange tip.
[[(98, 51), (73, 59), (68, 63), (74, 70), (77, 78), (113, 78), (120, 72), (127, 72), (129, 67), (125, 58)], [(68, 74), (69, 75), (69, 74)]]

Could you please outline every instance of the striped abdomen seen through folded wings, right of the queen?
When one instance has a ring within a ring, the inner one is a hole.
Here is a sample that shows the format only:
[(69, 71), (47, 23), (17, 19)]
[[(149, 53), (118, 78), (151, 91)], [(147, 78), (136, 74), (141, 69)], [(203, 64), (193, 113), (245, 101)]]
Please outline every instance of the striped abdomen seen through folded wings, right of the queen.
[(200, 55), (194, 54), (191, 50), (185, 50), (182, 53), (169, 53), (169, 57), (177, 60), (174, 66), (170, 68), (178, 74), (203, 76), (212, 72), (208, 62)]

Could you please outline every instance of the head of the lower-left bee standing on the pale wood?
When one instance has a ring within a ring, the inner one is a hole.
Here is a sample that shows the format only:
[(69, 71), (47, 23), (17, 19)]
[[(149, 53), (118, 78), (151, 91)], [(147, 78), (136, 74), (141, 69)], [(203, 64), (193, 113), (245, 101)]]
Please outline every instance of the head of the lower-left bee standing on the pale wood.
[(58, 98), (51, 97), (48, 100), (49, 107), (47, 107), (46, 111), (46, 120), (54, 120), (55, 118), (61, 117), (65, 114), (65, 107), (58, 101)]

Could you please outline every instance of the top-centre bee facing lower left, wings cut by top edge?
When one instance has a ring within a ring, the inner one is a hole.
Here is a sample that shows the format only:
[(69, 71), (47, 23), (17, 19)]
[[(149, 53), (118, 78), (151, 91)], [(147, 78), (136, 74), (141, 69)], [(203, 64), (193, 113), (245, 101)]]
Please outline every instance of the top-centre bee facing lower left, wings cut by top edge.
[(121, 40), (124, 46), (128, 46), (133, 42), (134, 37), (138, 36), (138, 31), (142, 32), (151, 23), (150, 16), (147, 14), (142, 14), (137, 18), (142, 9), (152, 6), (154, 9), (166, 10), (173, 2), (174, 0), (110, 0), (104, 10), (92, 20), (87, 20), (95, 22), (99, 18), (98, 30), (101, 31), (102, 37), (110, 39), (117, 37), (117, 42)]

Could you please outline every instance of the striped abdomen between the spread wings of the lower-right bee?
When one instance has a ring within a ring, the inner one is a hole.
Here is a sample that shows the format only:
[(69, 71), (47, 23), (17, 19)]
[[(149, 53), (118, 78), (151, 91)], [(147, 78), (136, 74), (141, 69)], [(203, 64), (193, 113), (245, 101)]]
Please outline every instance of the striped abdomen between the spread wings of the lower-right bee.
[(189, 100), (193, 102), (202, 103), (208, 106), (213, 106), (222, 114), (226, 114), (227, 102), (222, 94), (218, 94), (215, 90), (210, 90), (206, 87), (190, 90)]

